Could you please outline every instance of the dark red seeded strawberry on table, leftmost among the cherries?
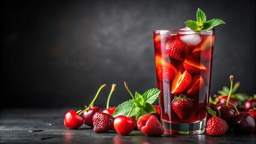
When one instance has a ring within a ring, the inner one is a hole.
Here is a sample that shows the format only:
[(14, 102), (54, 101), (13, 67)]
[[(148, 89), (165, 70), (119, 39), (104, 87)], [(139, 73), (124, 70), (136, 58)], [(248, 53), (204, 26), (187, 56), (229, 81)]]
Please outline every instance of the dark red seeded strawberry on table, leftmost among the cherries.
[(114, 128), (114, 118), (108, 113), (97, 112), (93, 116), (93, 130), (95, 133), (105, 133)]

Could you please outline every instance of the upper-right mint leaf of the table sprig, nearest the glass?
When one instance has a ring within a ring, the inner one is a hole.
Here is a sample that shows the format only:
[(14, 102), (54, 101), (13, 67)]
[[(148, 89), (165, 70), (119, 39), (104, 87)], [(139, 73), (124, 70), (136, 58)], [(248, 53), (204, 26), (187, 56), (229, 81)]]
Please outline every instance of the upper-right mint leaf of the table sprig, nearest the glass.
[(142, 97), (145, 100), (145, 103), (153, 104), (154, 101), (159, 97), (160, 90), (157, 88), (149, 89), (144, 94), (142, 94)]

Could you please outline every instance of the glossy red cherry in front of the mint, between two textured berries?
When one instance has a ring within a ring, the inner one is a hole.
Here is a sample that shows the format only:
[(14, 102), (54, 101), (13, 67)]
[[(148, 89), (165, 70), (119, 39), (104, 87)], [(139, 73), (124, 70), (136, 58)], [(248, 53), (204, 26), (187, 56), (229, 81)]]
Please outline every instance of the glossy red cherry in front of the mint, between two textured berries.
[(135, 127), (135, 121), (133, 120), (133, 118), (120, 115), (115, 118), (114, 127), (117, 133), (125, 136), (133, 131)]

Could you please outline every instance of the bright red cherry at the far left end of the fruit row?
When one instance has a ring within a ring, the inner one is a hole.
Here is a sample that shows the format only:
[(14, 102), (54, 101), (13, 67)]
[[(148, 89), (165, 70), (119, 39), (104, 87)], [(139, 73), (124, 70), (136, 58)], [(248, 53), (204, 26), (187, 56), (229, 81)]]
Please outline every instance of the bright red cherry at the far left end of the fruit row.
[(78, 115), (74, 110), (69, 110), (64, 116), (64, 125), (69, 129), (78, 129), (84, 123), (81, 115)]

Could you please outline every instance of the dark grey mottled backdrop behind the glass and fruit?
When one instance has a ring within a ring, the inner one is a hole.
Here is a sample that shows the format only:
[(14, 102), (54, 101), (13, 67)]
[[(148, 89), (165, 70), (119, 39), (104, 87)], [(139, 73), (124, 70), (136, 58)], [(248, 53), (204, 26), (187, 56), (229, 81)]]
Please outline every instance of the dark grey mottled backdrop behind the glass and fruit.
[(216, 27), (211, 94), (255, 91), (255, 1), (1, 1), (1, 107), (111, 106), (156, 88), (153, 30), (180, 29), (197, 8)]

